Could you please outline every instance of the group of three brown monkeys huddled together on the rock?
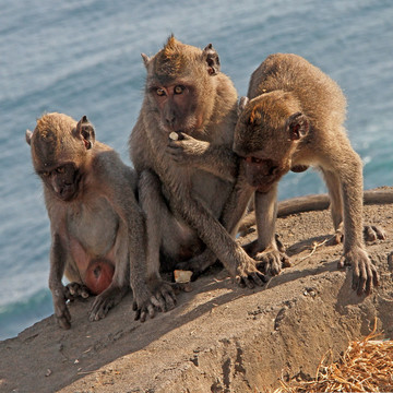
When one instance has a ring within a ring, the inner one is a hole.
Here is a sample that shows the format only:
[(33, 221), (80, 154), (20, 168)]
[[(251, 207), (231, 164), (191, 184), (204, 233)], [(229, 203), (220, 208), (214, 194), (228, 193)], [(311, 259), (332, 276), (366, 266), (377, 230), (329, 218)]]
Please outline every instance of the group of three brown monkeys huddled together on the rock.
[[(67, 302), (90, 295), (92, 321), (130, 288), (136, 320), (174, 308), (182, 286), (163, 272), (187, 270), (195, 279), (219, 261), (239, 286), (263, 286), (290, 265), (275, 236), (278, 181), (310, 166), (326, 182), (334, 241), (344, 241), (338, 265), (352, 266), (359, 295), (379, 285), (364, 241), (361, 160), (335, 82), (299, 56), (276, 53), (239, 103), (211, 44), (202, 50), (170, 36), (142, 58), (133, 169), (95, 139), (86, 116), (46, 114), (26, 131), (50, 219), (49, 288), (61, 327), (71, 325)], [(258, 238), (242, 248), (236, 235), (250, 203)]]

